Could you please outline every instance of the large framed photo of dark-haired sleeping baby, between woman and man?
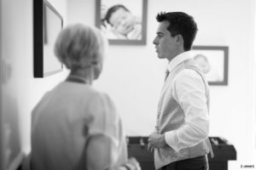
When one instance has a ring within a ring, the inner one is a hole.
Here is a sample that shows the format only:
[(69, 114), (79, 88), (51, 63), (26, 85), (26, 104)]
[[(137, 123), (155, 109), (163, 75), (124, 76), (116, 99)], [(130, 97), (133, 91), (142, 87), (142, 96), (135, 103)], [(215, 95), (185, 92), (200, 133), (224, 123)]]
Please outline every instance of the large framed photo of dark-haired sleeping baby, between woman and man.
[(110, 44), (146, 44), (147, 6), (148, 0), (96, 0), (96, 26)]

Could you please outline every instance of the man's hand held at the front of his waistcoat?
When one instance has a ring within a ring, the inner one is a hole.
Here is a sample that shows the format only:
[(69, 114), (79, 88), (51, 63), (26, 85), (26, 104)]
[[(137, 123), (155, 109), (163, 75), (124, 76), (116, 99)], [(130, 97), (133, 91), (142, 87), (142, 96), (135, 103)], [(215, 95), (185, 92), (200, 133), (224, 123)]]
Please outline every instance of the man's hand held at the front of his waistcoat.
[(151, 133), (148, 137), (148, 150), (163, 148), (166, 146), (165, 134)]

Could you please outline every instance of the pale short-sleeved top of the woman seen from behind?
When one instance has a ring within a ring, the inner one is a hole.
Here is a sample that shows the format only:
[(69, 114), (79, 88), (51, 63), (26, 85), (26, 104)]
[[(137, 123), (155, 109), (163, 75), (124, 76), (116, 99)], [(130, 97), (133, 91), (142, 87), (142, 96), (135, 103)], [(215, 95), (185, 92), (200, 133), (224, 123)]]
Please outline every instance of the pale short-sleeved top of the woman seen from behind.
[(61, 82), (32, 112), (32, 169), (83, 169), (86, 139), (97, 133), (112, 140), (111, 164), (123, 164), (125, 138), (113, 102), (84, 83)]

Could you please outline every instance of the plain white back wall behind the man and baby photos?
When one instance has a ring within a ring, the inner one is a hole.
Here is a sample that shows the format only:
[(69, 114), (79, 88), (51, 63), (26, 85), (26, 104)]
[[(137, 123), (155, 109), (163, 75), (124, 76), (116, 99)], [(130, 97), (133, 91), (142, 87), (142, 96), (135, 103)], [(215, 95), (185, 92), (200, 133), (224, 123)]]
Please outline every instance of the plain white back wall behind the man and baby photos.
[[(224, 137), (235, 145), (237, 161), (230, 161), (230, 169), (255, 165), (253, 5), (253, 0), (148, 0), (147, 45), (111, 45), (102, 77), (95, 83), (113, 99), (128, 135), (148, 135), (154, 128), (166, 65), (157, 59), (152, 45), (158, 25), (155, 15), (183, 11), (193, 15), (198, 24), (195, 45), (230, 47), (229, 85), (211, 87), (210, 136)], [(94, 26), (95, 13), (94, 0), (67, 1), (68, 23)]]

